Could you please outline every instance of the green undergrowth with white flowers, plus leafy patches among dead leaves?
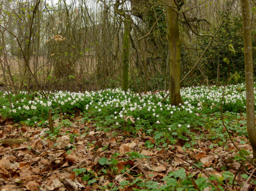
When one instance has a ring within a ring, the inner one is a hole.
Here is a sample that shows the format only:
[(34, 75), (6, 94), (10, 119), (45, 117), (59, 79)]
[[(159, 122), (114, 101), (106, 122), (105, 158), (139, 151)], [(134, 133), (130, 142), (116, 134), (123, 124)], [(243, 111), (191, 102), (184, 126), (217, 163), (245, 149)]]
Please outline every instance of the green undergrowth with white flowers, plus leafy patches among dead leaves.
[[(120, 89), (102, 90), (97, 92), (54, 92), (47, 93), (45, 98), (41, 92), (28, 96), (27, 92), (18, 95), (0, 92), (0, 113), (3, 117), (13, 118), (21, 124), (40, 127), (48, 123), (48, 112), (52, 110), (54, 121), (60, 121), (53, 132), (46, 132), (49, 138), (55, 140), (62, 127), (69, 127), (78, 118), (79, 123), (91, 124), (97, 131), (126, 133), (127, 137), (136, 138), (142, 134), (152, 137), (155, 142), (145, 141), (145, 147), (158, 151), (168, 149), (168, 145), (179, 143), (184, 151), (197, 149), (198, 140), (209, 141), (209, 149), (215, 147), (228, 147), (228, 133), (232, 137), (247, 135), (245, 111), (245, 87), (238, 84), (217, 88), (191, 87), (181, 90), (184, 104), (174, 106), (169, 100), (163, 101), (165, 94), (138, 94)], [(32, 99), (33, 97), (33, 99)], [(223, 103), (223, 105), (221, 105)], [(223, 115), (220, 112), (223, 109)], [(224, 128), (223, 124), (227, 127)], [(78, 136), (70, 134), (71, 142)], [(247, 139), (240, 140), (246, 144)], [(170, 146), (169, 146), (170, 147)], [(104, 149), (103, 149), (104, 150)], [(67, 151), (70, 152), (70, 151)], [(69, 154), (69, 153), (67, 153)], [(236, 161), (244, 162), (244, 155), (251, 153), (242, 150), (234, 156)], [(175, 156), (172, 156), (175, 157)], [(126, 152), (122, 161), (126, 165), (118, 172), (119, 153), (114, 153), (111, 158), (102, 157), (99, 160), (101, 170), (97, 173), (85, 168), (75, 168), (76, 176), (87, 181), (88, 185), (98, 183), (102, 175), (130, 173), (135, 179), (122, 180), (118, 184), (111, 182), (100, 187), (101, 190), (134, 191), (194, 191), (211, 187), (210, 190), (224, 190), (223, 186), (234, 185), (234, 174), (227, 169), (221, 169), (220, 176), (209, 177), (191, 174), (185, 168), (171, 171), (159, 181), (152, 181), (140, 174), (133, 174), (129, 170), (138, 160), (150, 160), (150, 157), (138, 152)], [(130, 162), (127, 162), (130, 161)], [(191, 168), (203, 170), (201, 162), (192, 163)], [(201, 173), (201, 172), (200, 172)], [(150, 174), (149, 174), (150, 176)], [(246, 174), (243, 178), (248, 178)], [(161, 182), (161, 183), (158, 183)]]

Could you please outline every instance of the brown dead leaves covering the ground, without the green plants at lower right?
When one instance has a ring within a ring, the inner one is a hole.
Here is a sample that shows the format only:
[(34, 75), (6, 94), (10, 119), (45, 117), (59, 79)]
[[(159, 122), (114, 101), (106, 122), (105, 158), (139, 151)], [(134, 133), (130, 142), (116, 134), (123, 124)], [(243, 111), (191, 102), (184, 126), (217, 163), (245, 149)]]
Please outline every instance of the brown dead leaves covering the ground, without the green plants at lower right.
[[(134, 120), (132, 117), (127, 119)], [(116, 132), (96, 131), (94, 126), (79, 123), (76, 119), (73, 119), (72, 126), (63, 127), (55, 138), (48, 137), (47, 130), (44, 127), (17, 125), (11, 121), (0, 126), (1, 140), (25, 138), (22, 143), (0, 144), (1, 191), (101, 190), (100, 187), (104, 186), (110, 188), (108, 184), (115, 181), (132, 181), (139, 174), (143, 181), (152, 180), (164, 185), (163, 177), (180, 168), (185, 168), (187, 175), (194, 175), (195, 179), (207, 175), (221, 176), (223, 171), (233, 174), (239, 171), (235, 188), (232, 189), (228, 184), (224, 186), (226, 190), (239, 190), (239, 186), (245, 182), (241, 173), (245, 173), (245, 168), (248, 172), (253, 170), (250, 164), (240, 168), (240, 163), (234, 160), (237, 150), (230, 141), (227, 141), (226, 147), (215, 145), (211, 149), (209, 145), (213, 143), (209, 140), (198, 140), (190, 149), (183, 147), (183, 141), (163, 148), (148, 148), (146, 141), (156, 143), (151, 136), (140, 132), (133, 138), (120, 131), (113, 136)], [(240, 148), (252, 150), (249, 144), (237, 144)], [(115, 157), (118, 160), (116, 164), (99, 164), (102, 157), (110, 162), (117, 152), (120, 155)], [(127, 152), (137, 152), (144, 157), (133, 158)], [(145, 160), (146, 157), (150, 158)], [(199, 163), (203, 170), (191, 165)], [(122, 175), (130, 168), (133, 168), (130, 173)], [(76, 169), (84, 170), (76, 174)], [(196, 183), (194, 186), (197, 187)], [(120, 191), (132, 191), (133, 188), (142, 189), (138, 185), (127, 185)]]

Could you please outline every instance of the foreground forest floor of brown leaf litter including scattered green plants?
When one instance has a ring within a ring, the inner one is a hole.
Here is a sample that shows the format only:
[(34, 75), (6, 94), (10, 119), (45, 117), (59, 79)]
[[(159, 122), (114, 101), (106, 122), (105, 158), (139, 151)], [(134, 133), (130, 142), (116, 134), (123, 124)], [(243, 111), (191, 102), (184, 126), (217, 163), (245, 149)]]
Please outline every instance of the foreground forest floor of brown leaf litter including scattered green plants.
[[(252, 164), (238, 156), (230, 140), (220, 145), (218, 138), (207, 139), (211, 131), (204, 127), (191, 129), (198, 137), (204, 133), (193, 145), (178, 138), (159, 147), (142, 131), (99, 131), (93, 120), (82, 119), (80, 114), (58, 118), (54, 127), (61, 128), (53, 138), (47, 124), (1, 117), (1, 140), (13, 140), (0, 145), (1, 191), (256, 189)], [(238, 148), (252, 151), (246, 136), (235, 131), (231, 136)], [(26, 140), (13, 144), (15, 138)]]

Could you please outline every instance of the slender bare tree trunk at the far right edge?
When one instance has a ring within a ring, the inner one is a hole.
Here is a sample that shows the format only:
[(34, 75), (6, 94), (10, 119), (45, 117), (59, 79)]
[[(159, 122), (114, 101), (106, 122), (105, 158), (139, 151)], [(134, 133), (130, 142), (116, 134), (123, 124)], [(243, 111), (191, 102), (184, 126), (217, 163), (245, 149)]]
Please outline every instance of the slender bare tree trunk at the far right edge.
[(251, 18), (248, 0), (241, 0), (244, 33), (244, 63), (246, 84), (246, 121), (249, 140), (252, 144), (253, 159), (256, 160), (256, 130), (255, 130), (255, 108), (253, 90), (253, 62), (252, 62), (252, 36)]

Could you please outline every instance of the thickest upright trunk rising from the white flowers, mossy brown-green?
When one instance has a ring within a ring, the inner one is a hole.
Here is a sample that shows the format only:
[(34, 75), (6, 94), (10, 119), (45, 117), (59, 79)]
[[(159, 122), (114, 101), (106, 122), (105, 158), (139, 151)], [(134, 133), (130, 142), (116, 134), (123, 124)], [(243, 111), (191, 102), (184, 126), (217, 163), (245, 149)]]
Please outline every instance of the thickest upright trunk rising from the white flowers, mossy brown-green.
[(170, 101), (171, 105), (183, 104), (180, 95), (180, 46), (179, 13), (175, 0), (167, 1), (167, 39), (169, 46)]

